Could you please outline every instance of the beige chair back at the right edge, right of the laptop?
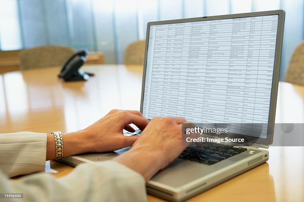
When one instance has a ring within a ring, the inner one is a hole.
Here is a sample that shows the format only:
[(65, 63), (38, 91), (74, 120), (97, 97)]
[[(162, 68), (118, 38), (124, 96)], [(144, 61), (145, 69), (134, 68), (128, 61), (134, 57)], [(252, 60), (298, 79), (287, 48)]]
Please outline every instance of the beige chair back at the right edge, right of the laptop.
[(304, 41), (292, 53), (285, 81), (304, 86)]

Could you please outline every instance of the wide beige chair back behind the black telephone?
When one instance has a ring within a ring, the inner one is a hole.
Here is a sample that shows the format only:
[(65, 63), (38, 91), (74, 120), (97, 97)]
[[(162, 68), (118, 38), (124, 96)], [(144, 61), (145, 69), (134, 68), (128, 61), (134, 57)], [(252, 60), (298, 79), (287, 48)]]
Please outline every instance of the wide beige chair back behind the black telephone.
[(74, 52), (74, 49), (70, 47), (58, 45), (43, 45), (25, 49), (19, 54), (20, 69), (62, 66)]

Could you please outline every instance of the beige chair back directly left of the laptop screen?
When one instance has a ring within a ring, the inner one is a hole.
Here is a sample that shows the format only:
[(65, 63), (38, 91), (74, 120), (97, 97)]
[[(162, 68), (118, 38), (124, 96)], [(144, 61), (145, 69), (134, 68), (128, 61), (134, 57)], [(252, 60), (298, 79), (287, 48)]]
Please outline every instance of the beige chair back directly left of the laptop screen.
[(125, 52), (125, 65), (143, 65), (143, 58), (145, 55), (146, 41), (136, 41), (130, 43)]

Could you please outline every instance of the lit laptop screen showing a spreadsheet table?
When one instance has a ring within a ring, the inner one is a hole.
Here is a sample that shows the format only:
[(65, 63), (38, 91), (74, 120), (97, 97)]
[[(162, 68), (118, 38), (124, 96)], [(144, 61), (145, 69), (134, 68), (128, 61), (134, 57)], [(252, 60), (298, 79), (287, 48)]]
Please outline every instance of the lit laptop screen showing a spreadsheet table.
[(268, 123), (277, 29), (278, 15), (150, 25), (143, 115)]

